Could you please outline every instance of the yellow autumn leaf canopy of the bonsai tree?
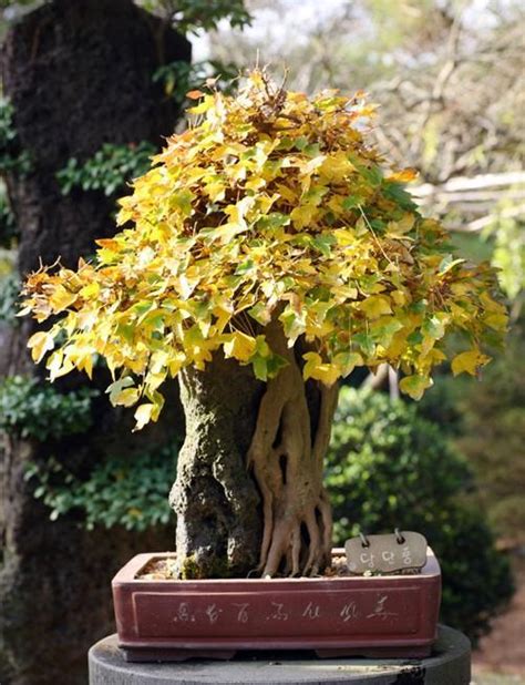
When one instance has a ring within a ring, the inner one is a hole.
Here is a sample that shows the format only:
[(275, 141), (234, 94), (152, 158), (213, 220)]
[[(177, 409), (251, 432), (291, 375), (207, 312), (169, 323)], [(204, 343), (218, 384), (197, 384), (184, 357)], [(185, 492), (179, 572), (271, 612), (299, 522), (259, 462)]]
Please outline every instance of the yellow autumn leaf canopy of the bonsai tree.
[(309, 99), (256, 71), (236, 98), (192, 95), (191, 126), (121, 201), (122, 232), (76, 270), (27, 279), (22, 313), (53, 320), (29, 341), (35, 361), (51, 351), (51, 379), (103, 357), (111, 401), (138, 402), (142, 427), (162, 384), (215, 350), (275, 377), (287, 364), (265, 335), (275, 318), (290, 347), (306, 341), (305, 379), (389, 362), (420, 398), (450, 331), (464, 346), (453, 372), (477, 374), (506, 328), (495, 274), (454, 258), (404, 190), (414, 173), (366, 142), (362, 93)]

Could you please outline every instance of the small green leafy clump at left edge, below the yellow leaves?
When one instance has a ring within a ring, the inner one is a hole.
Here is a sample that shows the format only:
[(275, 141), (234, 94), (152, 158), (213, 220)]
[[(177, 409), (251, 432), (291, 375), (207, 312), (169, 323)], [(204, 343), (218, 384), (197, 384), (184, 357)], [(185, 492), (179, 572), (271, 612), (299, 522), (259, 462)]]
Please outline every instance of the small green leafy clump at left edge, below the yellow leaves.
[(91, 401), (99, 390), (60, 392), (37, 378), (9, 376), (0, 381), (0, 431), (20, 438), (63, 438), (92, 425)]

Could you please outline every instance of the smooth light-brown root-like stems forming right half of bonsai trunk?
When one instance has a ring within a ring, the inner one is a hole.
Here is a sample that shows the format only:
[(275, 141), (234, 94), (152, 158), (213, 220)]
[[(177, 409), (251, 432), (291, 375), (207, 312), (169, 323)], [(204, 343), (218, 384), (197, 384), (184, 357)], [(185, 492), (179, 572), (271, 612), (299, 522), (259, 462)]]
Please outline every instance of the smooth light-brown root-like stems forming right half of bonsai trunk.
[(332, 517), (322, 487), (337, 387), (320, 386), (316, 434), (311, 437), (305, 382), (294, 349), (278, 321), (267, 327), (272, 349), (288, 366), (268, 381), (247, 454), (262, 495), (264, 533), (258, 571), (272, 576), (316, 575), (330, 560)]

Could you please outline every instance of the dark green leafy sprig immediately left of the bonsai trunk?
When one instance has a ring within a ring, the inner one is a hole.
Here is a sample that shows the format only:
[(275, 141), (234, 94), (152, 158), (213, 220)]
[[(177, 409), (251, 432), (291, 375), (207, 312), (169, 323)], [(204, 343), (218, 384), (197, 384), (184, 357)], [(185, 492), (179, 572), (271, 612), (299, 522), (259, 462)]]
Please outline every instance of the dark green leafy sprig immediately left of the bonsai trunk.
[(137, 456), (110, 456), (85, 480), (50, 458), (30, 463), (25, 479), (33, 483), (34, 497), (50, 508), (52, 520), (73, 514), (89, 530), (100, 524), (144, 531), (167, 524), (173, 515), (167, 498), (177, 452), (174, 443)]

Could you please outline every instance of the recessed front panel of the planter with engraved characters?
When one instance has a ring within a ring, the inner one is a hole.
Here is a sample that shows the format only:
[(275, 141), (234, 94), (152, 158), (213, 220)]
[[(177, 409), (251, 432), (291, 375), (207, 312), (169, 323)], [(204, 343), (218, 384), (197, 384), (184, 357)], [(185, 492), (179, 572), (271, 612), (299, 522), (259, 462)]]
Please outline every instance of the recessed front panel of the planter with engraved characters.
[[(393, 634), (400, 630), (413, 634), (420, 626), (421, 600), (415, 587), (377, 587), (337, 589), (322, 597), (302, 590), (288, 594), (239, 592), (227, 599), (220, 593), (202, 596), (195, 592), (177, 597), (137, 593), (134, 603), (137, 635), (186, 640), (199, 635), (288, 637), (298, 630), (315, 635), (325, 625), (338, 635)], [(152, 614), (155, 622), (150, 618)]]

